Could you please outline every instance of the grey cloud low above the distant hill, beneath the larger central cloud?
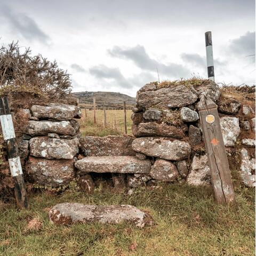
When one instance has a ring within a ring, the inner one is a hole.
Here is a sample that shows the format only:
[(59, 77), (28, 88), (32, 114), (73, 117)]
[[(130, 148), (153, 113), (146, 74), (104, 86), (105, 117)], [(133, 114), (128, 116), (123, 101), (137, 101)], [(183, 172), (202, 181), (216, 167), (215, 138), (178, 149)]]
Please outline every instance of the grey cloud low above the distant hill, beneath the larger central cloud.
[(122, 75), (119, 68), (109, 68), (105, 65), (94, 66), (89, 69), (91, 75), (98, 79), (110, 79), (116, 81), (117, 86), (131, 88), (130, 84)]

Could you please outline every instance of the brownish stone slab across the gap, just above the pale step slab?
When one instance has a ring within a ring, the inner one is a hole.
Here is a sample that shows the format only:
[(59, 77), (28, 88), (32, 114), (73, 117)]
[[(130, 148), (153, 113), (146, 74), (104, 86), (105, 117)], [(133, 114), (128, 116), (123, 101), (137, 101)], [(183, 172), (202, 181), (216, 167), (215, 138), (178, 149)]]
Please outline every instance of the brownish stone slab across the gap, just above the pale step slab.
[(85, 156), (134, 156), (133, 140), (130, 136), (86, 136), (79, 139), (79, 144)]

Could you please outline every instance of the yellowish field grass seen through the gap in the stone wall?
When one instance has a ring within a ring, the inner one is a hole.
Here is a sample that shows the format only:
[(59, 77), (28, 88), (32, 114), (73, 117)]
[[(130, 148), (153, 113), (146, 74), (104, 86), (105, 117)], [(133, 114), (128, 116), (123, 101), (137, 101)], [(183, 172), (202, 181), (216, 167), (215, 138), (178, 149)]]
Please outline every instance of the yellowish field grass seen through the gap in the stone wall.
[[(82, 109), (82, 118), (79, 120), (81, 124), (82, 136), (107, 136), (107, 135), (123, 135), (124, 134), (124, 110), (106, 110), (107, 127), (103, 123), (103, 110), (96, 111), (96, 124), (94, 124), (93, 110)], [(132, 135), (132, 110), (126, 110), (127, 134)]]

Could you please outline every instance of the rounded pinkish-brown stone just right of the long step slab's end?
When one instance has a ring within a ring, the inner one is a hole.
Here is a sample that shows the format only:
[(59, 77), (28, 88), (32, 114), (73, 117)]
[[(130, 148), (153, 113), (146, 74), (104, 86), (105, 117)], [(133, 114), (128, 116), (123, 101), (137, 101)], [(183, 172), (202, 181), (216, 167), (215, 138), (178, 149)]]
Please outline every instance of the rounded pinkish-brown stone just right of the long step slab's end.
[(180, 176), (175, 164), (159, 158), (156, 159), (149, 174), (153, 179), (160, 181), (175, 181)]

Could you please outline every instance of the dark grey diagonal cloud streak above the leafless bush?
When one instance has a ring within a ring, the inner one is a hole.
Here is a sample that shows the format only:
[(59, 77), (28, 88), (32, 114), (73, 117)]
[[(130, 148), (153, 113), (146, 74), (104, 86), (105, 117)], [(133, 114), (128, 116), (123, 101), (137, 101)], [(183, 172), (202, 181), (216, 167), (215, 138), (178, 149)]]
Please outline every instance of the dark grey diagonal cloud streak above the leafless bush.
[(44, 43), (49, 41), (49, 36), (47, 36), (41, 28), (39, 28), (37, 23), (25, 13), (14, 12), (6, 5), (2, 6), (1, 9), (2, 11), (0, 11), (0, 13), (4, 20), (7, 21), (6, 23), (21, 36), (30, 41), (35, 39)]

